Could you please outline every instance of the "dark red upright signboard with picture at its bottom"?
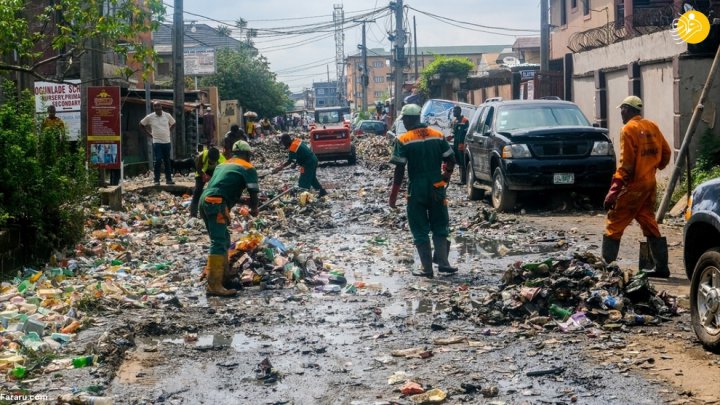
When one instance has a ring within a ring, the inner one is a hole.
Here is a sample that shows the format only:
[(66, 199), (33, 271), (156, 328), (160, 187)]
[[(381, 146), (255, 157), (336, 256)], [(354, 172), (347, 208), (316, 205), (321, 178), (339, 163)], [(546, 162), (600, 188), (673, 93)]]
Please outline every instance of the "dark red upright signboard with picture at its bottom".
[(91, 166), (119, 169), (120, 87), (88, 87), (87, 158)]

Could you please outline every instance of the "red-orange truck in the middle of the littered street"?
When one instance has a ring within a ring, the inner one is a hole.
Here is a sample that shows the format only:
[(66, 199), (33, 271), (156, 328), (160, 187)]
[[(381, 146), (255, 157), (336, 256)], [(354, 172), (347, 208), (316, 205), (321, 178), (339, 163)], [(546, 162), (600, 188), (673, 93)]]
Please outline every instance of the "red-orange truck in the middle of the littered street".
[(310, 125), (310, 149), (319, 161), (357, 161), (350, 134), (350, 108), (324, 107), (315, 109), (315, 123)]

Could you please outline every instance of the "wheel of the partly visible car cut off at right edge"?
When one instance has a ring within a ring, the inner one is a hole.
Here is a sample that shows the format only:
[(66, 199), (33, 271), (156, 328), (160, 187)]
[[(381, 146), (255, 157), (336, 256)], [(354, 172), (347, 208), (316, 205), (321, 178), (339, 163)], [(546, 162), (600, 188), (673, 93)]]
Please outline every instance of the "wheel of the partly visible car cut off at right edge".
[(720, 249), (703, 253), (690, 282), (690, 317), (703, 346), (720, 352)]

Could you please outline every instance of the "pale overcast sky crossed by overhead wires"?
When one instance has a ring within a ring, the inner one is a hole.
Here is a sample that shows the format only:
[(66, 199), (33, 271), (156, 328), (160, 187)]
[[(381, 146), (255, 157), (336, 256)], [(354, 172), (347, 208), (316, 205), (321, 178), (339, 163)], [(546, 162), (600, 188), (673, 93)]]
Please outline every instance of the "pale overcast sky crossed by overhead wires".
[[(174, 3), (166, 1), (168, 19), (172, 20)], [(223, 22), (230, 26), (242, 18), (248, 21), (248, 28), (287, 29), (300, 25), (321, 25), (333, 21), (333, 5), (342, 4), (345, 26), (352, 25), (353, 17), (376, 9), (387, 7), (385, 0), (184, 0), (185, 22), (196, 21), (211, 26)], [(405, 0), (421, 12), (435, 14), (459, 22), (477, 25), (530, 29), (536, 32), (509, 31), (504, 29), (486, 30), (478, 26), (459, 28), (434, 19), (418, 11), (408, 9), (405, 26), (412, 30), (412, 19), (417, 23), (418, 47), (447, 45), (512, 45), (517, 36), (539, 36), (539, 0)], [(366, 25), (368, 48), (390, 49), (388, 31), (393, 27), (394, 17), (386, 16)], [(450, 22), (463, 25), (458, 22)], [(491, 34), (492, 31), (505, 35)], [(362, 43), (362, 30), (358, 27), (344, 30), (344, 55), (357, 53)], [(233, 36), (239, 37), (239, 31)], [(335, 39), (332, 29), (314, 30), (308, 34), (268, 36), (266, 32), (254, 40), (260, 53), (270, 62), (270, 68), (278, 79), (287, 83), (292, 91), (311, 87), (313, 81), (336, 79)]]

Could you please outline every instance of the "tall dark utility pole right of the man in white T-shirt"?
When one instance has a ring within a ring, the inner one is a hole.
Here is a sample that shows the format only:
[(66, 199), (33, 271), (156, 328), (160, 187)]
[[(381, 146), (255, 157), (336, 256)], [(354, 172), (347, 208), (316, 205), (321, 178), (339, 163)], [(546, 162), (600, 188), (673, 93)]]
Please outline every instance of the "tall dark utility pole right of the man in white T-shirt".
[(183, 0), (175, 0), (173, 16), (173, 60), (175, 61), (173, 77), (173, 116), (175, 118), (175, 142), (173, 155), (184, 156), (185, 150), (185, 22), (183, 21)]

